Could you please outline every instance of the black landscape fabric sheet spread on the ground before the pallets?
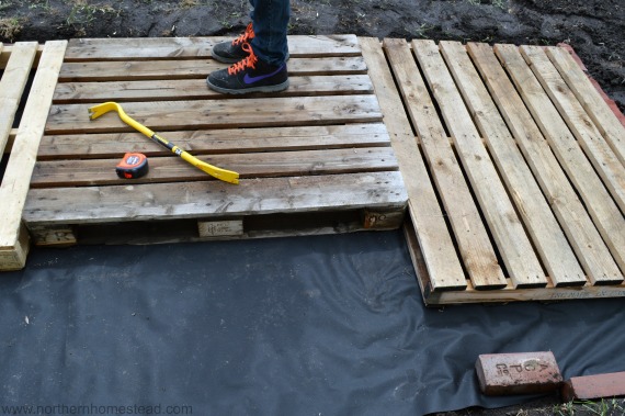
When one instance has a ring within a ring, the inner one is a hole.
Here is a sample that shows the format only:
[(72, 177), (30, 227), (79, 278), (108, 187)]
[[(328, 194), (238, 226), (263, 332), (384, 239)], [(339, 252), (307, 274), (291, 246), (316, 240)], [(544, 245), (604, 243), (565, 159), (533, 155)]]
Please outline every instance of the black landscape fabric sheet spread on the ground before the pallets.
[(3, 414), (413, 416), (535, 398), (482, 396), (480, 353), (625, 370), (624, 300), (427, 308), (400, 232), (34, 249), (0, 278)]

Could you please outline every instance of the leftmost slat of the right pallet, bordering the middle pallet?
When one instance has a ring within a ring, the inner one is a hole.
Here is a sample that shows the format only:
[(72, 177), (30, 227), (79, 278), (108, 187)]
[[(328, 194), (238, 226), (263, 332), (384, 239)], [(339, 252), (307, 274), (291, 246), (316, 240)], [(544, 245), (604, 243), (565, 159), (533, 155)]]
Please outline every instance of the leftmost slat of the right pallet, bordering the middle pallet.
[(429, 180), (414, 134), (406, 114), (398, 111), (402, 108), (402, 103), (387, 67), (382, 45), (377, 38), (361, 37), (360, 41), (406, 183), (408, 209), (419, 234), (419, 248), (425, 258), (424, 268), (430, 276), (430, 285), (433, 290), (464, 289), (467, 283), (461, 261), (447, 232), (443, 212)]

